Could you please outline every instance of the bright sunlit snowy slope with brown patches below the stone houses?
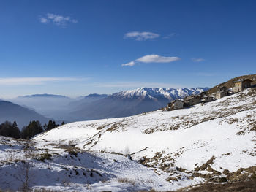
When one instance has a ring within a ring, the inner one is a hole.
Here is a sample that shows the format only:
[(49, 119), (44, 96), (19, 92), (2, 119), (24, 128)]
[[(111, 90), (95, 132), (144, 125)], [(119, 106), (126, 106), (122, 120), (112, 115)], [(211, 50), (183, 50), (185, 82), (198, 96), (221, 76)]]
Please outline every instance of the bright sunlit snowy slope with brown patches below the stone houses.
[[(255, 99), (256, 91), (247, 90), (189, 109), (70, 123), (35, 139), (75, 142), (92, 151), (129, 149), (136, 160), (146, 157), (152, 164), (190, 171), (214, 156), (215, 170), (236, 171), (256, 163)], [(161, 158), (156, 158), (158, 153)]]

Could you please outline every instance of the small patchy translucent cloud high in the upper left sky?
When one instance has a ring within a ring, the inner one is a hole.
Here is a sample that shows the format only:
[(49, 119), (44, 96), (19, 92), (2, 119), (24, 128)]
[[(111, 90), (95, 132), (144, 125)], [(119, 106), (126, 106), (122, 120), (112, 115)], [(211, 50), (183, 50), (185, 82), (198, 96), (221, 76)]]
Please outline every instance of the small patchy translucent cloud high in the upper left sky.
[(47, 13), (44, 17), (39, 17), (41, 23), (53, 23), (57, 26), (66, 26), (67, 23), (78, 23), (78, 20), (72, 19), (69, 16), (57, 15), (53, 13)]

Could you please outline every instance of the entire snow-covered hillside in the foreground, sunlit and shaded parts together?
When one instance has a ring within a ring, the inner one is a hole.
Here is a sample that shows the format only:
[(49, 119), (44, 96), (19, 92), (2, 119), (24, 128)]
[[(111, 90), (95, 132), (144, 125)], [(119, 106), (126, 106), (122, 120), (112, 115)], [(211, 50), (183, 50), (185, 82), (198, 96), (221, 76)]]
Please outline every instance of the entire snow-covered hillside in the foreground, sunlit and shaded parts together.
[(174, 191), (248, 180), (256, 172), (255, 99), (249, 89), (189, 109), (69, 123), (29, 147), (2, 138), (0, 188), (23, 184), (23, 161), (32, 165), (31, 187), (60, 191)]

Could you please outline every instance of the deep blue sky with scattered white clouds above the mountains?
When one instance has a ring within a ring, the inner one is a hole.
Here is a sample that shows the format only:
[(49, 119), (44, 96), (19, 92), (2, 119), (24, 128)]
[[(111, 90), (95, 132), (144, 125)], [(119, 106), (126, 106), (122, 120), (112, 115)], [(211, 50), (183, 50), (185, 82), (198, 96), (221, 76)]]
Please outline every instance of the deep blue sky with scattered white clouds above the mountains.
[(1, 98), (255, 74), (256, 1), (0, 1)]

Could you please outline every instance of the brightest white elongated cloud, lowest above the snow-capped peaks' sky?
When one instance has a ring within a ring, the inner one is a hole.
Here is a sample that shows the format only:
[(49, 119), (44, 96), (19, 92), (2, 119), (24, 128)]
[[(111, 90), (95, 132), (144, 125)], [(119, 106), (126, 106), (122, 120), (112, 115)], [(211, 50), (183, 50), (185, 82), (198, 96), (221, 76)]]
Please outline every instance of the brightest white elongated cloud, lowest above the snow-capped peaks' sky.
[(181, 58), (178, 57), (164, 57), (160, 55), (145, 55), (141, 58), (131, 61), (127, 64), (122, 64), (121, 66), (134, 66), (139, 63), (170, 63), (173, 61), (178, 61)]

